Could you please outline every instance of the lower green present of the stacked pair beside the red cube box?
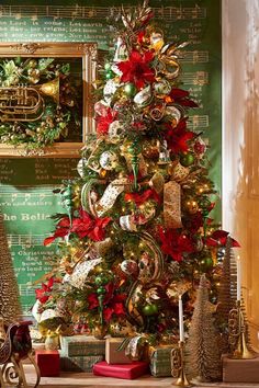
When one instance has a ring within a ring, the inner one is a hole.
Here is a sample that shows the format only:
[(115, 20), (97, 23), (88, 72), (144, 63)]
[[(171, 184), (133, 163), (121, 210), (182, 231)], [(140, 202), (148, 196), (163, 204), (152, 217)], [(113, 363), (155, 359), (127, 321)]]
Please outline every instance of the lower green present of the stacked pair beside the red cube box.
[(92, 372), (93, 365), (103, 361), (102, 355), (67, 357), (64, 355), (63, 351), (59, 351), (59, 355), (60, 369), (66, 372)]

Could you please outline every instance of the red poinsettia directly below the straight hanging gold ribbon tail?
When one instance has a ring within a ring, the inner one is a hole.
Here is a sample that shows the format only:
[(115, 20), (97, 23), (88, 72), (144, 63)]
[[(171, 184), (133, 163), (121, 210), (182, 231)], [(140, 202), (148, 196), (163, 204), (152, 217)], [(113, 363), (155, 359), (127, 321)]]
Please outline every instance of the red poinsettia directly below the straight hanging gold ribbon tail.
[(161, 251), (169, 254), (174, 261), (180, 262), (183, 260), (184, 253), (195, 251), (191, 239), (178, 229), (164, 230), (160, 227), (158, 231), (161, 240)]

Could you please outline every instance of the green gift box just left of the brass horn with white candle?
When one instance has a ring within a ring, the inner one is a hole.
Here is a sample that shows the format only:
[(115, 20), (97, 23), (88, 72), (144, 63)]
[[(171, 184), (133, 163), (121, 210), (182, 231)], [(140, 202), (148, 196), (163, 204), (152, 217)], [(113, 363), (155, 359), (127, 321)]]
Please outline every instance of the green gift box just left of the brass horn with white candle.
[(149, 350), (150, 373), (156, 377), (171, 376), (171, 350), (173, 346), (158, 346)]

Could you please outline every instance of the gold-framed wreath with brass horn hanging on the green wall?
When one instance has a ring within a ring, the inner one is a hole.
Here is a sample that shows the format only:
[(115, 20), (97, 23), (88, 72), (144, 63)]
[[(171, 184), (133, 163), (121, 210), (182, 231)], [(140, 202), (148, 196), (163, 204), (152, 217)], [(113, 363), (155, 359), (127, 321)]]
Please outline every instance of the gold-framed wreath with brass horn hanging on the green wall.
[(0, 46), (0, 155), (77, 153), (93, 126), (95, 53), (94, 44)]

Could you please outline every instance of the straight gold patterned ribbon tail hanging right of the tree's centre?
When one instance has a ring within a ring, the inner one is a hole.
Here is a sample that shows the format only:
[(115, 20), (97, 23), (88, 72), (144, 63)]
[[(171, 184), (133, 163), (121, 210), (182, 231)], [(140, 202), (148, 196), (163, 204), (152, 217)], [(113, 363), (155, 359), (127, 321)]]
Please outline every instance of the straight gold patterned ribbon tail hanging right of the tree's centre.
[(164, 187), (164, 220), (166, 228), (181, 228), (181, 186), (169, 181)]

